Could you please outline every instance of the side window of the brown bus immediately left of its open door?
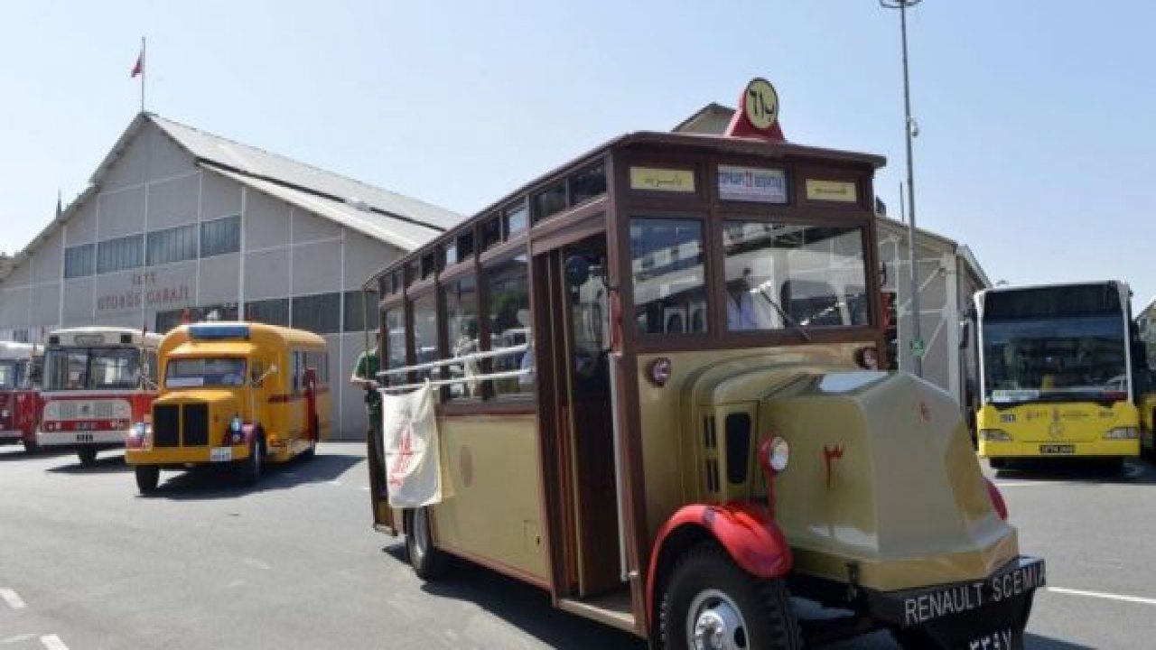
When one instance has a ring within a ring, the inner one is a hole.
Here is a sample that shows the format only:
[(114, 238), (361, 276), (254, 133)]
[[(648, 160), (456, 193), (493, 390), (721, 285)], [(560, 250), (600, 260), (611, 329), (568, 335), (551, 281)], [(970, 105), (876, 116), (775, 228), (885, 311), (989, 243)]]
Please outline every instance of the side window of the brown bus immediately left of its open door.
[[(517, 256), (486, 269), (486, 290), (490, 323), (490, 349), (529, 345), (529, 273), (526, 256)], [(532, 369), (532, 350), (511, 353), (492, 360), (494, 372)], [(495, 379), (495, 394), (533, 391), (531, 375)]]

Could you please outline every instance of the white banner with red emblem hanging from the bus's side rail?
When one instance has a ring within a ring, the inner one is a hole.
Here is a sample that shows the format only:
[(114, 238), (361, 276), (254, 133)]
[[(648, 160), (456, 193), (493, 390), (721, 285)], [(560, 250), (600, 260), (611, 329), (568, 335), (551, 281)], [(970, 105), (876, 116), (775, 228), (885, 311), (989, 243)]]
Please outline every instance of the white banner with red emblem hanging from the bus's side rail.
[(385, 485), (393, 508), (420, 508), (442, 501), (442, 472), (433, 389), (381, 394)]

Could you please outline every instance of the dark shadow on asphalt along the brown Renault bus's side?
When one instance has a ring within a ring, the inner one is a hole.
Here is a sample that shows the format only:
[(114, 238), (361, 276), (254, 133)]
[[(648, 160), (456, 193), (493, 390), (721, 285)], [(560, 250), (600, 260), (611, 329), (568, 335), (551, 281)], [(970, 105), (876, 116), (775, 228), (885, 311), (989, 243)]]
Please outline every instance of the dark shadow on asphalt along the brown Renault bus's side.
[[(409, 563), (403, 542), (386, 546), (381, 552), (399, 562)], [(536, 586), (457, 559), (445, 578), (424, 583), (422, 591), (439, 598), (474, 603), (550, 648), (646, 648), (645, 642), (632, 634), (555, 610), (550, 605), (550, 594)]]

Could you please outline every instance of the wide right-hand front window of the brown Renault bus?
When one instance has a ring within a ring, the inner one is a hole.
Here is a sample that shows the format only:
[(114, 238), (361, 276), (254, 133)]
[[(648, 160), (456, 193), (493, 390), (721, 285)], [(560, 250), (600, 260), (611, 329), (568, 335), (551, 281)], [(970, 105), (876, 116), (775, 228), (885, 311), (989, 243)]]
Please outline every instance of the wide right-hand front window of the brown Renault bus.
[(860, 228), (727, 221), (722, 245), (728, 330), (868, 324)]

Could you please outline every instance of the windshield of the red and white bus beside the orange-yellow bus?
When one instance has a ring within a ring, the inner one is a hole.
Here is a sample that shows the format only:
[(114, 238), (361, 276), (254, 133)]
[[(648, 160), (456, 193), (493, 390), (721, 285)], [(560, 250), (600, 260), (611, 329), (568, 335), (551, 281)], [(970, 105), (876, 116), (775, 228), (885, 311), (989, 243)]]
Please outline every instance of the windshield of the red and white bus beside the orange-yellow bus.
[(120, 347), (49, 348), (45, 390), (132, 390), (140, 385), (140, 350)]

